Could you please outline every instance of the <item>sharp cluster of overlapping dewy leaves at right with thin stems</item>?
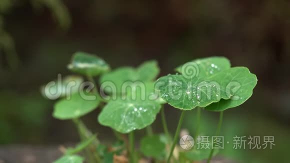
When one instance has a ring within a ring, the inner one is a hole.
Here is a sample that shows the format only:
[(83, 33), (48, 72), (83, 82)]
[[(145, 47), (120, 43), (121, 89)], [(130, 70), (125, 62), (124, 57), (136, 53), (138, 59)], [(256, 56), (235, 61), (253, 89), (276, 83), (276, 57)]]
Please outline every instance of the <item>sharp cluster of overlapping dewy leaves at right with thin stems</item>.
[[(168, 74), (155, 82), (161, 98), (175, 108), (182, 109), (173, 141), (184, 117), (184, 110), (204, 107), (221, 111), (216, 134), (219, 134), (222, 111), (238, 106), (251, 95), (257, 83), (256, 76), (246, 67), (230, 67), (225, 57), (207, 57), (187, 62), (175, 69), (180, 74)], [(167, 161), (170, 161), (174, 145), (171, 145)], [(209, 153), (208, 162), (214, 149)]]

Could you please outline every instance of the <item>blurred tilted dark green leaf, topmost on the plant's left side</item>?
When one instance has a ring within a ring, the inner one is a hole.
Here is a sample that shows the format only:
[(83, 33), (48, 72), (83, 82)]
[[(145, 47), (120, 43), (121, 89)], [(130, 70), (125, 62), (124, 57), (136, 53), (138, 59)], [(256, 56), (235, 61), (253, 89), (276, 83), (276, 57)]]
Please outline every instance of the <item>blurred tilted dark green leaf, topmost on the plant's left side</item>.
[(102, 58), (86, 52), (75, 52), (67, 68), (73, 72), (90, 76), (96, 76), (110, 69)]

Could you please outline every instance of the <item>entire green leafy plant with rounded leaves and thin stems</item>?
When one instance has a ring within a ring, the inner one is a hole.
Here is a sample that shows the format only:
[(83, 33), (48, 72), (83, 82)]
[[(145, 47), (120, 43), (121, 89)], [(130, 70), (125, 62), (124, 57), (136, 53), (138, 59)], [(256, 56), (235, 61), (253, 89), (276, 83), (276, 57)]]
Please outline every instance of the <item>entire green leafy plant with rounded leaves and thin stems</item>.
[[(48, 98), (62, 98), (54, 105), (53, 116), (62, 120), (71, 119), (82, 142), (74, 148), (67, 148), (64, 156), (55, 162), (82, 162), (84, 158), (77, 155), (80, 151), (84, 151), (87, 162), (112, 162), (113, 155), (120, 156), (122, 160), (129, 157), (129, 162), (137, 162), (142, 155), (152, 157), (157, 162), (186, 162), (206, 158), (209, 162), (217, 150), (197, 150), (193, 147), (184, 152), (176, 149), (179, 156), (172, 157), (185, 112), (197, 108), (197, 119), (200, 119), (200, 108), (219, 111), (215, 133), (218, 135), (223, 111), (245, 102), (252, 95), (257, 82), (256, 76), (247, 68), (230, 67), (229, 60), (224, 57), (187, 62), (176, 68), (176, 74), (168, 74), (157, 80), (159, 68), (154, 60), (136, 68), (120, 67), (110, 71), (109, 65), (101, 58), (76, 52), (68, 68), (85, 75), (90, 83), (83, 85), (80, 76), (68, 76), (57, 86), (54, 85), (56, 81), (43, 86), (42, 92)], [(98, 75), (100, 93), (94, 81)], [(47, 96), (47, 92), (59, 93), (57, 96)], [(164, 103), (181, 109), (173, 139), (166, 125)], [(112, 128), (117, 138), (117, 143), (111, 145), (110, 150), (80, 119), (97, 107), (102, 107), (98, 122)], [(159, 112), (164, 134), (154, 134), (150, 126)], [(198, 121), (196, 123), (199, 124)], [(147, 132), (140, 141), (140, 152), (135, 150), (134, 145), (136, 129), (146, 129)], [(123, 134), (128, 134), (128, 140)], [(168, 145), (171, 147), (167, 148)], [(128, 152), (128, 156), (124, 151)]]

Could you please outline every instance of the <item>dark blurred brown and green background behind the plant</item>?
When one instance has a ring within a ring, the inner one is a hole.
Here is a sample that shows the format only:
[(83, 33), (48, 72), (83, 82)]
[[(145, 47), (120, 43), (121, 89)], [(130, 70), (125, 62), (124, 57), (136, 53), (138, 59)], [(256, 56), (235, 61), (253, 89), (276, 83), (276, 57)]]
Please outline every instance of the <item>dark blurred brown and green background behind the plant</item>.
[[(53, 100), (40, 85), (71, 74), (75, 51), (95, 53), (112, 68), (156, 59), (161, 73), (195, 58), (221, 55), (258, 77), (253, 96), (225, 111), (222, 134), (275, 136), (272, 149), (234, 150), (243, 162), (289, 162), (290, 2), (287, 0), (0, 0), (0, 151), (11, 146), (57, 147), (78, 141), (70, 121), (53, 119)], [(166, 105), (173, 132), (178, 110)], [(83, 117), (103, 141), (113, 139)], [(196, 111), (183, 128), (194, 132)], [(218, 113), (202, 111), (201, 132), (213, 134)], [(153, 123), (161, 132), (159, 115)], [(143, 131), (138, 131), (141, 136)], [(226, 139), (226, 138), (225, 138)], [(1, 158), (1, 155), (0, 155)], [(43, 161), (44, 162), (44, 161)]]

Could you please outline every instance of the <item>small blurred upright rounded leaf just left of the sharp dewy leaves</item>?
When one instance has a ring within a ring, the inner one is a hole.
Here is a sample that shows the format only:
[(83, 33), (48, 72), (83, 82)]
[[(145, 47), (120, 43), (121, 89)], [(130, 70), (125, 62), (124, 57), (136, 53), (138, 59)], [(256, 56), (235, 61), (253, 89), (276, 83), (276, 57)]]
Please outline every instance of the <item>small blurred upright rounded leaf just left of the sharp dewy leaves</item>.
[(159, 67), (156, 60), (145, 61), (136, 69), (139, 74), (138, 80), (141, 81), (152, 81), (159, 74)]

